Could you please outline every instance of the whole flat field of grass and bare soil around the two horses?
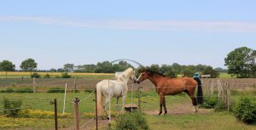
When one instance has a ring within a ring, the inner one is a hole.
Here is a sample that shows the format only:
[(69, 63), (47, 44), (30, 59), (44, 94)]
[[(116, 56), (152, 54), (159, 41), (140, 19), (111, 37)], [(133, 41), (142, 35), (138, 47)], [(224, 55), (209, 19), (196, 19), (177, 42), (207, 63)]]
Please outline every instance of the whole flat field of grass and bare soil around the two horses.
[[(11, 73), (10, 73), (11, 74)], [(40, 75), (45, 75), (42, 73)], [(57, 74), (56, 74), (57, 75)], [(58, 74), (59, 75), (59, 74)], [(10, 76), (27, 76), (12, 74)], [(55, 76), (52, 74), (51, 76)], [(58, 108), (58, 122), (60, 129), (73, 129), (73, 99), (79, 98), (79, 113), (80, 113), (80, 126), (85, 122), (90, 121), (95, 116), (95, 93), (91, 91), (84, 91), (85, 89), (94, 90), (96, 82), (104, 78), (114, 78), (113, 74), (79, 74), (73, 75), (78, 78), (39, 78), (36, 79), (36, 90), (38, 93), (0, 93), (0, 129), (54, 129), (54, 106), (49, 105), (51, 101), (57, 99)], [(4, 77), (4, 76), (3, 76)], [(84, 78), (85, 77), (85, 78)], [(254, 79), (233, 79), (233, 78), (220, 78), (221, 82), (234, 82), (235, 90), (232, 90), (232, 99), (237, 101), (241, 96), (252, 95), (256, 97), (256, 90), (254, 88)], [(76, 82), (76, 87), (79, 93), (71, 93)], [(203, 88), (205, 90), (211, 86), (213, 82), (214, 90), (217, 89), (217, 79), (203, 79)], [(65, 88), (67, 83), (67, 100), (65, 115), (62, 116), (64, 93), (46, 93), (49, 88)], [(233, 84), (234, 84), (233, 83)], [(129, 83), (130, 92), (125, 101), (126, 104), (137, 104), (137, 88), (133, 92), (133, 99), (131, 100), (131, 82)], [(238, 84), (238, 85), (237, 85)], [(198, 113), (192, 112), (192, 105), (189, 97), (182, 93), (176, 96), (167, 96), (166, 105), (168, 114), (166, 116), (157, 116), (159, 111), (159, 96), (155, 93), (152, 83), (145, 81), (141, 84), (142, 88), (142, 110), (147, 118), (150, 129), (186, 129), (186, 130), (251, 130), (256, 129), (256, 126), (247, 125), (236, 120), (229, 112), (214, 112), (213, 110), (200, 109)], [(31, 78), (2, 78), (0, 79), (0, 90), (7, 88), (32, 88), (33, 83)], [(239, 89), (237, 87), (240, 87)], [(250, 89), (245, 89), (251, 87)], [(252, 88), (253, 87), (253, 88)], [(90, 94), (91, 93), (91, 94)], [(90, 95), (90, 96), (89, 96)], [(88, 99), (87, 99), (87, 96)], [(32, 117), (18, 117), (9, 118), (3, 116), (3, 98), (22, 101), (22, 110), (31, 110), (34, 112)], [(86, 99), (85, 99), (86, 98)], [(111, 100), (112, 111), (115, 110), (116, 99)], [(112, 113), (114, 114), (114, 113)], [(45, 115), (45, 116), (44, 116)], [(113, 116), (113, 120), (115, 117)], [(108, 124), (107, 120), (100, 121), (100, 129), (105, 129)], [(84, 129), (95, 129), (95, 121), (86, 124)]]

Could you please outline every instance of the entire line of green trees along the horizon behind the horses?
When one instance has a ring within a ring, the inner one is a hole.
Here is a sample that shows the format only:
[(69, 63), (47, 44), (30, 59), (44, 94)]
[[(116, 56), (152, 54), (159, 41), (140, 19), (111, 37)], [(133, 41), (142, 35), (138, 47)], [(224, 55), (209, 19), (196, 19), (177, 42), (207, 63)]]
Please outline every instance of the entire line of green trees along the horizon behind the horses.
[[(149, 69), (152, 71), (160, 72), (166, 76), (176, 77), (177, 75), (193, 76), (195, 72), (201, 74), (210, 74), (212, 77), (218, 77), (220, 72), (228, 72), (232, 76), (239, 78), (256, 77), (256, 51), (252, 48), (241, 47), (236, 48), (227, 54), (224, 59), (226, 69), (215, 68), (210, 65), (179, 65), (174, 63), (172, 65), (149, 65), (140, 66), (137, 71), (143, 69)], [(39, 71), (37, 70), (38, 63), (34, 59), (25, 59), (20, 64), (21, 71)], [(132, 67), (131, 64), (126, 61), (119, 61), (119, 63), (112, 64), (109, 61), (98, 62), (90, 65), (73, 65), (65, 64), (63, 68), (50, 69), (49, 72), (91, 72), (91, 73), (114, 73), (115, 71), (124, 71), (125, 69)], [(0, 71), (15, 71), (15, 64), (9, 60), (3, 60), (0, 62)]]

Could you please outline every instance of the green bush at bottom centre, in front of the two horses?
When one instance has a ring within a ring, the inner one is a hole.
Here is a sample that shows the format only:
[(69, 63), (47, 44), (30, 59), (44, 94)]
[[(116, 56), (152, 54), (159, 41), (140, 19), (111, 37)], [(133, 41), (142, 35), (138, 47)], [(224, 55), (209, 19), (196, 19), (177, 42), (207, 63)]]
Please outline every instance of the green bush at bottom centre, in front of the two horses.
[(115, 130), (140, 130), (149, 129), (148, 122), (139, 111), (125, 112), (120, 115), (116, 121)]

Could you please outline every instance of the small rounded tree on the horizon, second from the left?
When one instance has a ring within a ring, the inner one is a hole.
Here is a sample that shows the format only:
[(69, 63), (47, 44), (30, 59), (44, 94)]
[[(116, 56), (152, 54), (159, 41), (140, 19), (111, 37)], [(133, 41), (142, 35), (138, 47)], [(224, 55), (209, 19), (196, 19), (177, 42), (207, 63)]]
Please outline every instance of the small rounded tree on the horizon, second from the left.
[(38, 67), (38, 63), (34, 59), (25, 59), (21, 62), (20, 69), (22, 71), (34, 71)]

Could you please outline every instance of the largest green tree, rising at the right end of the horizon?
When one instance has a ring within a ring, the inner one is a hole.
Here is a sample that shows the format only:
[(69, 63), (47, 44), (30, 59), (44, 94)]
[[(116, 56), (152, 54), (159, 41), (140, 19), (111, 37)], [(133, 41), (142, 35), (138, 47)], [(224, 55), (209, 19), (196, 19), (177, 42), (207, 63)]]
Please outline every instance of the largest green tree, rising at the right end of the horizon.
[(252, 48), (241, 47), (231, 51), (224, 59), (228, 73), (240, 78), (256, 76), (256, 51)]

